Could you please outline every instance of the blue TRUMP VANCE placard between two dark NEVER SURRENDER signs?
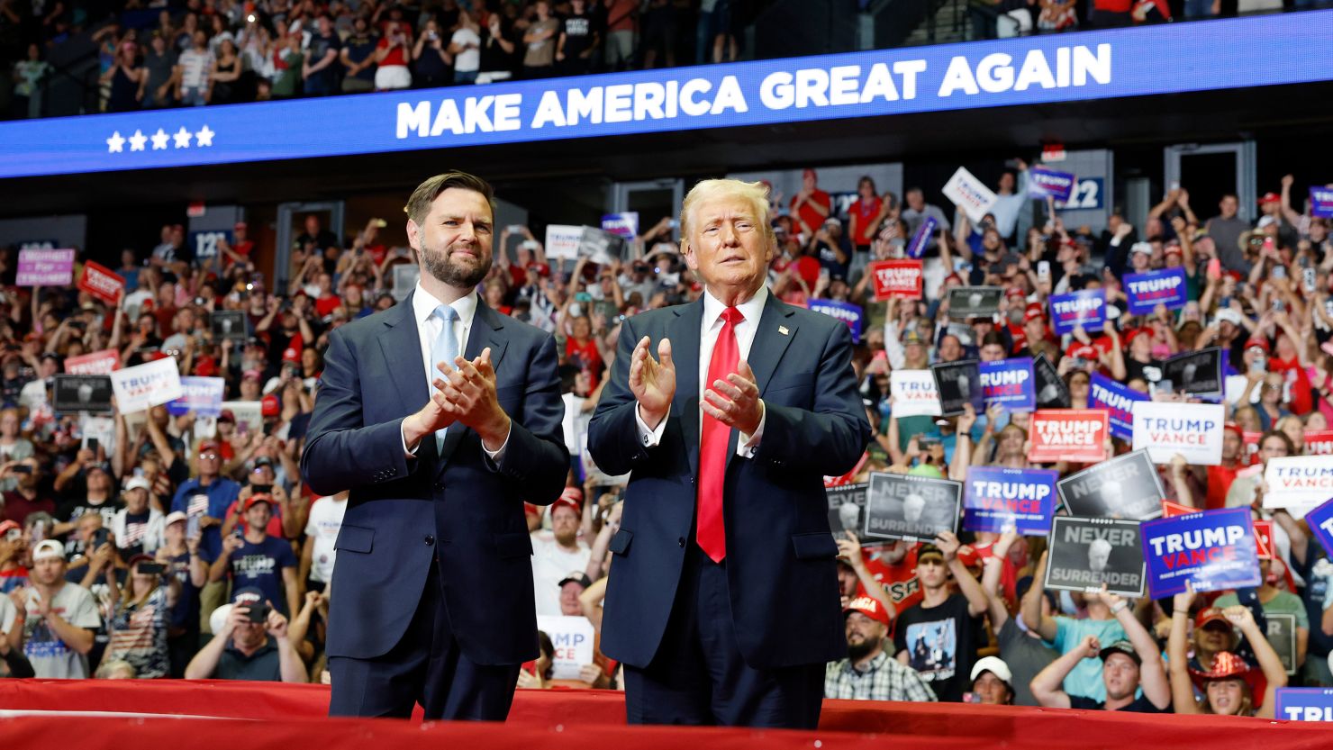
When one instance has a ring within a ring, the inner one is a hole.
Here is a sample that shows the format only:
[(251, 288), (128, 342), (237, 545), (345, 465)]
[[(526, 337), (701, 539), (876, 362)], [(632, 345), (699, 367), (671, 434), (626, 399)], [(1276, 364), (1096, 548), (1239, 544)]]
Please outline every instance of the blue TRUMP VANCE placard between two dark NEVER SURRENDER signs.
[(970, 466), (962, 496), (962, 528), (968, 532), (1004, 532), (1045, 537), (1054, 514), (1054, 469)]

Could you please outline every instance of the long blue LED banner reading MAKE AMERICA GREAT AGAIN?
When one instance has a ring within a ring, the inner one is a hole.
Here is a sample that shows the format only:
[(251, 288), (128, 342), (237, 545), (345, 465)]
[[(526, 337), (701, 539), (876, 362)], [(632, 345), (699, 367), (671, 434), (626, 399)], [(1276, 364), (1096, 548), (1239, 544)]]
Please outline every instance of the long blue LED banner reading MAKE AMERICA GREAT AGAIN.
[(1310, 83), (1330, 77), (1318, 64), (1328, 59), (1329, 39), (1333, 11), (1308, 11), (485, 87), (0, 123), (0, 177)]

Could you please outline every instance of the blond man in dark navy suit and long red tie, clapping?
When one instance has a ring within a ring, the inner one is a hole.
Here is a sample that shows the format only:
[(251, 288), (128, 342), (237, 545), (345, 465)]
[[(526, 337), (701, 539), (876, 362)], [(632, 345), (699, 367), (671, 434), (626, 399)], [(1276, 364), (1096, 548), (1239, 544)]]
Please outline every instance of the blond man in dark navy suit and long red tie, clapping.
[(846, 325), (764, 285), (766, 210), (758, 183), (690, 190), (681, 246), (704, 296), (623, 324), (588, 428), (597, 466), (631, 474), (601, 649), (625, 663), (632, 723), (813, 729), (846, 654), (822, 478), (869, 424)]

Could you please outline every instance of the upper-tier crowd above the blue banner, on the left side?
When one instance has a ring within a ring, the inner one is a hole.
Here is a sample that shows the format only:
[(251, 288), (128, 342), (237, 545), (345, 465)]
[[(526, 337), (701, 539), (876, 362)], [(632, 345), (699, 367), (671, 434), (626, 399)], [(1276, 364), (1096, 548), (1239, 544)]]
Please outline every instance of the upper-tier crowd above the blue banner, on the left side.
[(79, 33), (97, 48), (100, 111), (128, 112), (729, 61), (753, 16), (744, 0), (111, 5), (0, 3), (12, 117), (41, 116), (47, 56)]

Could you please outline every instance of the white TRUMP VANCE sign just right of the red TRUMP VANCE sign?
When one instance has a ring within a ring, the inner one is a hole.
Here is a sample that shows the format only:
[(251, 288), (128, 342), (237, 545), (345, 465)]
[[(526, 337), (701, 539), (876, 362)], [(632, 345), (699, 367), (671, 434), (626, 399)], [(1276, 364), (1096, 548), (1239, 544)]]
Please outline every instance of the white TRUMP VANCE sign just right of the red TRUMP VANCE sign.
[(1221, 404), (1138, 401), (1134, 450), (1148, 450), (1153, 464), (1170, 464), (1178, 453), (1193, 466), (1217, 466), (1222, 462), (1225, 418)]

